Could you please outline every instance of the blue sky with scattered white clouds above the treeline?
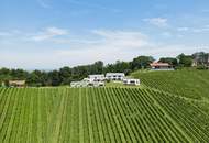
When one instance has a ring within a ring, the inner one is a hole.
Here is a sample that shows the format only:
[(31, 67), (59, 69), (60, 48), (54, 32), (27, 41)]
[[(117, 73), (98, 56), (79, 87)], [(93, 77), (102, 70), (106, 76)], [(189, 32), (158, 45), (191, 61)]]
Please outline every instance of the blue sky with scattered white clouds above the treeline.
[(0, 67), (209, 52), (209, 0), (0, 0)]

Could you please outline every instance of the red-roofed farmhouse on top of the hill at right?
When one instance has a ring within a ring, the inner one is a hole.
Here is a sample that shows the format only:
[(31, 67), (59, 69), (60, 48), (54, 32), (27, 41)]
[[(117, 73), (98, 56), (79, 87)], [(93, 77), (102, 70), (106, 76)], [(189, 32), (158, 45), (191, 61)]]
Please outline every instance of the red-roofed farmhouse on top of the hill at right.
[(168, 63), (154, 62), (151, 64), (153, 70), (174, 70), (173, 66)]

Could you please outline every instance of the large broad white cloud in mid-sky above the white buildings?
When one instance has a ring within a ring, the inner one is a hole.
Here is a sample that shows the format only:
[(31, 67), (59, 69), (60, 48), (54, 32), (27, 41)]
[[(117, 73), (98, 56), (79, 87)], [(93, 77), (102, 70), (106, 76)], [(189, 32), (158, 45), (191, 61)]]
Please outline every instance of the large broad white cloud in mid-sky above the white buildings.
[(78, 48), (57, 50), (56, 54), (74, 64), (88, 64), (99, 59), (112, 63), (117, 59), (131, 61), (151, 46), (148, 37), (141, 32), (94, 30), (91, 33), (95, 40), (80, 38), (81, 42), (76, 45)]

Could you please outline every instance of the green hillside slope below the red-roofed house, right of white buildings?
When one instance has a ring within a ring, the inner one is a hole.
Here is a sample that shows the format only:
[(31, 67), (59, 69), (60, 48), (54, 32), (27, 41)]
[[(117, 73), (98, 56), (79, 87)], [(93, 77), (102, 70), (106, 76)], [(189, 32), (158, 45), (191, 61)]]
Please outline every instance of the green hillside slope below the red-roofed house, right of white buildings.
[(193, 99), (209, 99), (209, 70), (135, 72), (132, 76), (151, 88)]

